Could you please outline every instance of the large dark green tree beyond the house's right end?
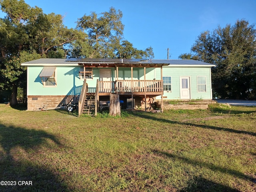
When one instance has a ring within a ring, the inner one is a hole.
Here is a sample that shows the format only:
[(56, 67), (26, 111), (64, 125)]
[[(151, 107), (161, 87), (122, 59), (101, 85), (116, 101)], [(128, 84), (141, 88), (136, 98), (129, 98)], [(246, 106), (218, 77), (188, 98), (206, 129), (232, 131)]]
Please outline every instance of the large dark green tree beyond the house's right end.
[(215, 96), (256, 98), (256, 30), (248, 21), (203, 32), (191, 48), (199, 60), (215, 64), (212, 82)]

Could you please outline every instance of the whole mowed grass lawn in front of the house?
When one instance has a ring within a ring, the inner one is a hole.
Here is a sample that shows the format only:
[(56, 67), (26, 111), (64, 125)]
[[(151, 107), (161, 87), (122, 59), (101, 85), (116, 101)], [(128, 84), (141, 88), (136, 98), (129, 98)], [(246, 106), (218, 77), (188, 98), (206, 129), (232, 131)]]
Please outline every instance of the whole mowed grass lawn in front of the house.
[(16, 181), (0, 191), (253, 192), (256, 108), (78, 118), (0, 104), (0, 180)]

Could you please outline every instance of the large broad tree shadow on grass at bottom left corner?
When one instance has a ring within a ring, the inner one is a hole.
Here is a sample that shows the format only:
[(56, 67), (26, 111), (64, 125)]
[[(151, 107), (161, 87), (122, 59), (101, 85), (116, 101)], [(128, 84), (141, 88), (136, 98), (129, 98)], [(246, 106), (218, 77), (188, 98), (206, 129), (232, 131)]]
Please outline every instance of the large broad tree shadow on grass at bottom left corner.
[[(29, 159), (39, 146), (51, 148), (49, 140), (61, 146), (55, 136), (45, 131), (0, 124), (0, 180), (14, 181), (11, 186), (1, 185), (1, 192), (62, 192), (67, 189), (58, 174), (54, 174), (39, 159)], [(20, 185), (19, 181), (31, 181), (32, 185)]]

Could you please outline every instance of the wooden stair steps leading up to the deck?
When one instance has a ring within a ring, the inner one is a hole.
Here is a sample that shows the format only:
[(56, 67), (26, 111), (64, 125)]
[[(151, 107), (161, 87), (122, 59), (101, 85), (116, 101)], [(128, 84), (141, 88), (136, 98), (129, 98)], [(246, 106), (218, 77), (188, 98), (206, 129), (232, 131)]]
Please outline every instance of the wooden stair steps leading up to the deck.
[(82, 106), (82, 113), (93, 116), (95, 112), (95, 93), (86, 93)]

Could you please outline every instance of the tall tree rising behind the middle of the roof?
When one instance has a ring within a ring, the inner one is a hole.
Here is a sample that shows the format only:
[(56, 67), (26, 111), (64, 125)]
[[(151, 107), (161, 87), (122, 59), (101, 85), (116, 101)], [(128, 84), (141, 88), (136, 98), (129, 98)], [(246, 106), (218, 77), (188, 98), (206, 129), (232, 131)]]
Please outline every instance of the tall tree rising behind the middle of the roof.
[[(152, 48), (138, 50), (123, 39), (122, 12), (111, 7), (102, 16), (92, 12), (78, 19), (77, 28), (88, 34), (88, 42), (76, 42), (72, 56), (86, 58), (154, 58)], [(85, 44), (88, 44), (87, 46)]]

